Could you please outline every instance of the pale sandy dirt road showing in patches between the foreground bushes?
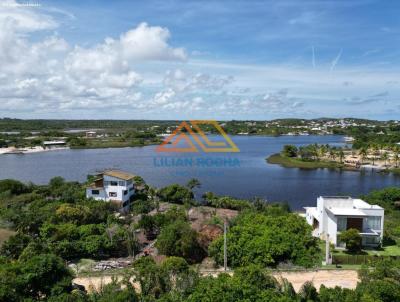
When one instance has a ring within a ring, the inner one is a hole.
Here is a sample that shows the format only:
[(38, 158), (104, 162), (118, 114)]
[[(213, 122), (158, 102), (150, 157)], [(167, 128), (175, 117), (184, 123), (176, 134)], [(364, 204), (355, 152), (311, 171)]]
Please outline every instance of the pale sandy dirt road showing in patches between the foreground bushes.
[[(209, 272), (203, 275), (216, 276), (219, 272)], [(272, 274), (275, 278), (286, 278), (290, 283), (293, 284), (295, 291), (299, 291), (301, 286), (306, 281), (311, 281), (314, 286), (319, 290), (323, 284), (326, 287), (340, 286), (344, 288), (354, 289), (357, 286), (358, 276), (355, 270), (321, 270), (321, 271), (310, 271), (310, 272), (275, 272)], [(117, 277), (121, 280), (121, 277)], [(98, 291), (103, 285), (111, 282), (111, 276), (99, 276), (99, 277), (78, 277), (73, 280), (74, 283), (83, 285), (86, 290), (92, 292), (93, 290)], [(137, 290), (139, 285), (133, 284)]]

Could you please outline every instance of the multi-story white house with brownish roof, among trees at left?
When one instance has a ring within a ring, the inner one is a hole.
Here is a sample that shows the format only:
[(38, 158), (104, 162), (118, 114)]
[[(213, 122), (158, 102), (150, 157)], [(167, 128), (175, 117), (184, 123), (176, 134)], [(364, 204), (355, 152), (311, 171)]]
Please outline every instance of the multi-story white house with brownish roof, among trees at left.
[(104, 171), (86, 188), (86, 197), (112, 201), (118, 204), (122, 211), (127, 211), (135, 194), (134, 177), (133, 174), (118, 170)]

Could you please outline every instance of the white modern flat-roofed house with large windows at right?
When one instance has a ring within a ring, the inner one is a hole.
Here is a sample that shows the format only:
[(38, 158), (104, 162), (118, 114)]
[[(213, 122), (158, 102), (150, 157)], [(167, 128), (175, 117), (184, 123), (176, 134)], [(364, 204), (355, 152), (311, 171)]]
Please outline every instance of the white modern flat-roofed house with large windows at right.
[(336, 247), (345, 247), (338, 235), (348, 229), (360, 232), (363, 246), (377, 247), (382, 241), (384, 209), (378, 205), (351, 197), (321, 196), (316, 207), (305, 209), (313, 236), (323, 240), (329, 238)]

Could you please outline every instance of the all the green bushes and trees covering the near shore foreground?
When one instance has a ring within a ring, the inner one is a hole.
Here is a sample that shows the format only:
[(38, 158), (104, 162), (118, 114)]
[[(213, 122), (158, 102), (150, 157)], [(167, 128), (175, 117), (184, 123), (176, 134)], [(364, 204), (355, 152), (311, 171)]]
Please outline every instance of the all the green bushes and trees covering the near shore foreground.
[[(280, 264), (298, 268), (319, 266), (321, 242), (311, 236), (305, 220), (290, 213), (285, 204), (238, 200), (212, 193), (205, 194), (204, 204), (240, 212), (230, 222), (227, 236), (228, 264), (235, 270), (232, 275), (201, 277), (193, 269), (195, 266), (189, 264), (198, 264), (206, 252), (221, 264), (223, 238), (214, 237), (207, 250), (199, 243), (198, 231), (191, 226), (188, 209), (197, 206), (192, 190), (200, 183), (192, 180), (187, 186), (171, 185), (157, 190), (139, 177), (135, 182), (138, 192), (132, 213), (140, 215), (119, 217), (112, 204), (86, 199), (84, 185), (77, 182), (56, 177), (48, 185), (36, 186), (1, 180), (0, 219), (2, 225), (12, 227), (13, 235), (0, 249), (0, 301), (392, 302), (400, 299), (400, 262), (393, 259), (374, 259), (369, 266), (363, 266), (361, 282), (354, 290), (322, 286), (318, 292), (312, 283), (306, 283), (296, 293), (289, 282), (278, 282), (268, 271)], [(387, 209), (382, 253), (397, 254), (400, 189), (374, 191), (364, 198)], [(158, 211), (160, 201), (175, 205), (169, 204)], [(217, 216), (209, 220), (216, 225), (222, 223)], [(73, 273), (65, 265), (67, 260), (81, 259), (79, 263), (83, 263), (88, 261), (82, 260), (85, 258), (137, 254), (140, 246), (132, 235), (136, 230), (143, 230), (149, 240), (157, 239), (156, 247), (167, 256), (165, 260), (156, 263), (150, 256), (142, 257), (131, 267), (115, 272), (122, 278), (115, 278), (98, 291), (73, 289)], [(358, 241), (350, 235), (342, 238), (348, 246)], [(137, 282), (141, 291), (129, 280)]]

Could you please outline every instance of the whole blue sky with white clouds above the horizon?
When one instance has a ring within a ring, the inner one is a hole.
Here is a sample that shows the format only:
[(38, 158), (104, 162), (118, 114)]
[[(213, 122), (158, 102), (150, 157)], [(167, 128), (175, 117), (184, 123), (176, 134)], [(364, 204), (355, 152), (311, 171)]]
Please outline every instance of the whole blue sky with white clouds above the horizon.
[(0, 118), (400, 117), (400, 2), (0, 0)]

